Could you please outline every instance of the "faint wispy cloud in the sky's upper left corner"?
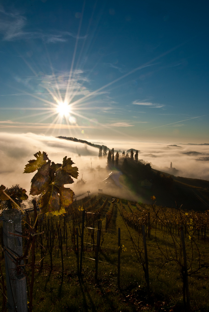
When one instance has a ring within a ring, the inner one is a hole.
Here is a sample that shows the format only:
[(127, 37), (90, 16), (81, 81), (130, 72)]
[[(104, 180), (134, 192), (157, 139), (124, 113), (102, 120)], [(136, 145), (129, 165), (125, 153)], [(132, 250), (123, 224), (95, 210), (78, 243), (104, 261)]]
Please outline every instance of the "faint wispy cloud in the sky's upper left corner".
[(68, 37), (77, 39), (86, 39), (87, 36), (79, 36), (72, 32), (48, 32), (43, 33), (38, 30), (27, 30), (27, 18), (18, 12), (6, 12), (3, 7), (0, 8), (0, 34), (4, 41), (16, 41), (27, 39), (41, 39), (47, 43), (64, 42)]

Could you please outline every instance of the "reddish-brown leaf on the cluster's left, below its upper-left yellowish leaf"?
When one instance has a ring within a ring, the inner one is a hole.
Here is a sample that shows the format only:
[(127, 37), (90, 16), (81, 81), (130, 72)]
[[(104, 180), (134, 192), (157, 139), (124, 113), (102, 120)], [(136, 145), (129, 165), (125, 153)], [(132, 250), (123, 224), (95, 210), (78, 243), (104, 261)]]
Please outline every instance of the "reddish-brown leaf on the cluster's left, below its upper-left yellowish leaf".
[(47, 190), (51, 182), (50, 164), (51, 160), (48, 160), (47, 163), (43, 164), (42, 167), (38, 169), (38, 172), (32, 178), (30, 195), (39, 195)]

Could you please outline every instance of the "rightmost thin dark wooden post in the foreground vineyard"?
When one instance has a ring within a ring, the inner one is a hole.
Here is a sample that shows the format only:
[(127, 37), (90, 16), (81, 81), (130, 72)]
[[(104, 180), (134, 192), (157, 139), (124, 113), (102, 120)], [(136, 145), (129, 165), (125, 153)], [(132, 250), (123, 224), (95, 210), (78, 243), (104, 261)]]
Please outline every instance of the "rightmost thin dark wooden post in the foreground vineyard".
[(187, 312), (190, 311), (190, 300), (189, 300), (189, 284), (188, 284), (188, 273), (187, 273), (187, 254), (186, 254), (186, 247), (185, 247), (185, 239), (184, 239), (184, 229), (183, 225), (180, 225), (181, 229), (181, 237), (182, 237), (182, 251), (183, 251), (183, 259), (184, 259), (184, 266), (183, 266), (183, 301), (185, 304), (185, 290), (186, 290), (186, 298), (187, 298)]

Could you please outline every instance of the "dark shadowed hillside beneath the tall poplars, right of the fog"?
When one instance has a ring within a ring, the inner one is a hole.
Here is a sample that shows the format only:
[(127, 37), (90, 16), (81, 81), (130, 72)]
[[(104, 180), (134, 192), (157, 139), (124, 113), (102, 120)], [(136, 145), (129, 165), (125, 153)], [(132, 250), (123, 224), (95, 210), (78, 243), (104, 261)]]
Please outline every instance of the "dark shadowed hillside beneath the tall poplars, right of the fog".
[[(118, 169), (122, 172), (120, 179), (123, 187), (127, 188), (128, 185), (140, 202), (151, 203), (151, 196), (154, 195), (159, 206), (178, 206), (196, 211), (209, 210), (209, 181), (207, 180), (175, 177), (152, 169), (148, 163), (135, 163), (130, 158), (126, 158), (125, 163), (124, 158), (119, 158)], [(144, 180), (150, 181), (152, 187), (143, 187)]]

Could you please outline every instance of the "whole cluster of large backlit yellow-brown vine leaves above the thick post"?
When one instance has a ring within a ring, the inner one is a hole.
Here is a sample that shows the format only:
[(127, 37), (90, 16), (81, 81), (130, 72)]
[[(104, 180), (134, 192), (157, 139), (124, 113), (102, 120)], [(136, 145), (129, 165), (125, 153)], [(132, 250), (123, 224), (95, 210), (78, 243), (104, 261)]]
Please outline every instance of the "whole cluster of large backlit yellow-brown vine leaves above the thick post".
[(73, 202), (74, 192), (70, 188), (65, 188), (64, 185), (73, 183), (72, 177), (77, 179), (78, 168), (72, 167), (74, 163), (67, 156), (63, 158), (62, 164), (51, 163), (45, 152), (42, 154), (38, 152), (34, 156), (37, 160), (30, 160), (24, 171), (29, 173), (38, 169), (31, 180), (30, 194), (42, 193), (41, 208), (43, 213), (52, 213), (53, 215), (65, 213), (65, 208)]

